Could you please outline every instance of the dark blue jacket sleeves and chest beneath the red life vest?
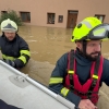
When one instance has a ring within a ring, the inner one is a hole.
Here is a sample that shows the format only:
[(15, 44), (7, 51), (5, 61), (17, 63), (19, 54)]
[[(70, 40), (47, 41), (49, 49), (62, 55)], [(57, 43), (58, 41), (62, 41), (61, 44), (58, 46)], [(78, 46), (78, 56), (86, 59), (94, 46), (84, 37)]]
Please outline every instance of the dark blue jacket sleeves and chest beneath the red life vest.
[[(76, 74), (78, 76), (80, 83), (83, 85), (90, 77), (89, 71), (92, 66), (92, 61), (84, 58), (77, 51), (74, 55), (74, 58), (76, 60)], [(68, 69), (68, 52), (64, 53), (57, 61), (56, 68), (51, 73), (49, 88), (53, 90), (55, 93), (60, 94), (61, 96), (65, 97), (71, 102), (75, 104), (75, 106), (78, 106), (81, 101), (81, 97), (72, 93), (66, 87), (64, 87), (65, 76), (68, 74), (66, 69)], [(99, 82), (100, 86), (102, 82), (105, 82), (106, 85), (109, 86), (109, 60), (107, 59), (104, 59), (102, 75)]]

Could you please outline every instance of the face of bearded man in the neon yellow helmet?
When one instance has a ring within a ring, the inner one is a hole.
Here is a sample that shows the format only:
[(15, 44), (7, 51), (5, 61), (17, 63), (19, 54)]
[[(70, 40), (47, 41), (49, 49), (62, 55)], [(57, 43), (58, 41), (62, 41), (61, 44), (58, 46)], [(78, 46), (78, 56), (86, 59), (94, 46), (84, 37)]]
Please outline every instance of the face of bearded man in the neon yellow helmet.
[[(77, 48), (83, 52), (83, 44), (78, 43)], [(89, 40), (86, 44), (86, 57), (96, 60), (100, 55), (101, 40)]]

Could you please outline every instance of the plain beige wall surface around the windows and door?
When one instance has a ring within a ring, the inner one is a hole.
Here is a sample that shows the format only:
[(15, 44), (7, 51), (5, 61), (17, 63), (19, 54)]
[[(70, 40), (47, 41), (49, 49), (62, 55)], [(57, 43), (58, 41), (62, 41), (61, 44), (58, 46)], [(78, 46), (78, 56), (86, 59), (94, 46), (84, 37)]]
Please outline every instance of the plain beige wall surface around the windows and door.
[[(15, 10), (31, 12), (28, 25), (66, 27), (68, 10), (78, 10), (77, 22), (86, 16), (104, 14), (109, 23), (109, 0), (0, 0), (0, 11)], [(55, 24), (47, 24), (47, 12), (56, 13)], [(63, 23), (58, 23), (63, 15)]]

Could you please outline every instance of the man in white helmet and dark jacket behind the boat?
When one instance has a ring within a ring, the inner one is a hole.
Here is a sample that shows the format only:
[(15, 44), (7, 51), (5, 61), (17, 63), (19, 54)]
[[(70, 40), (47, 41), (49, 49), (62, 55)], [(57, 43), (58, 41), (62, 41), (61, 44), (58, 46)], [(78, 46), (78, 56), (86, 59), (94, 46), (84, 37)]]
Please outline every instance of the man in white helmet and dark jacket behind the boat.
[(17, 25), (8, 19), (1, 22), (0, 49), (5, 63), (22, 69), (28, 62), (31, 52), (27, 43), (17, 34)]

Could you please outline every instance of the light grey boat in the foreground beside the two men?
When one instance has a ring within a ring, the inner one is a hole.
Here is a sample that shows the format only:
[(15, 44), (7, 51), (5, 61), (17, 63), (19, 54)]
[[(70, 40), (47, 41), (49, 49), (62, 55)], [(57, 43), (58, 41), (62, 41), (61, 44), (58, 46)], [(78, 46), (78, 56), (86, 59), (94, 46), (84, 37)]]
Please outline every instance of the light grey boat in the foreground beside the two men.
[(75, 109), (69, 100), (1, 60), (0, 99), (22, 109)]

